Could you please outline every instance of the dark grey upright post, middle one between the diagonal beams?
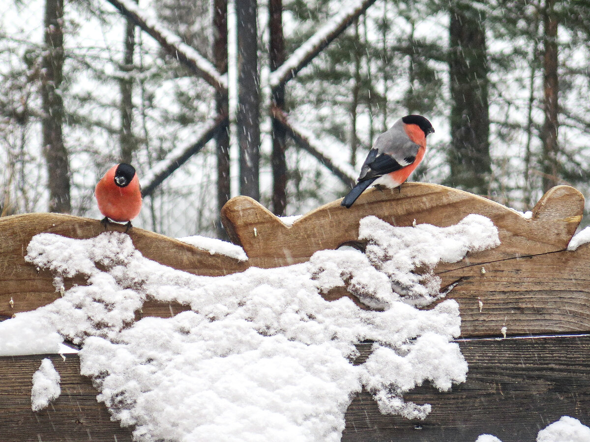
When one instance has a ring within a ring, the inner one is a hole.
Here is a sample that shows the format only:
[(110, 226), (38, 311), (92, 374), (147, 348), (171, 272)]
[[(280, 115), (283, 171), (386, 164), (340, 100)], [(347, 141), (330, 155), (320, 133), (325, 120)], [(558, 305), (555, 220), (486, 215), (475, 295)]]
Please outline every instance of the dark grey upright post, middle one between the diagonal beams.
[(258, 81), (256, 0), (235, 2), (238, 31), (238, 113), (240, 193), (260, 199), (260, 83)]

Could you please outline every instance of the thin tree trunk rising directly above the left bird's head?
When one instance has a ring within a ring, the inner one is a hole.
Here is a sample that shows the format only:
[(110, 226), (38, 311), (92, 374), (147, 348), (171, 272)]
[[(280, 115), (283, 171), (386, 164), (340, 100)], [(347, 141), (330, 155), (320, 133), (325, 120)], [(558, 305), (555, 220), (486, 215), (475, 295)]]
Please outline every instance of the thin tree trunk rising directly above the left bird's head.
[(127, 18), (124, 35), (124, 54), (121, 71), (123, 78), (120, 81), (121, 91), (121, 131), (119, 133), (119, 144), (121, 150), (121, 161), (131, 164), (133, 152), (137, 150), (137, 144), (132, 131), (133, 122), (133, 79), (130, 72), (133, 71), (133, 51), (135, 50), (135, 23)]

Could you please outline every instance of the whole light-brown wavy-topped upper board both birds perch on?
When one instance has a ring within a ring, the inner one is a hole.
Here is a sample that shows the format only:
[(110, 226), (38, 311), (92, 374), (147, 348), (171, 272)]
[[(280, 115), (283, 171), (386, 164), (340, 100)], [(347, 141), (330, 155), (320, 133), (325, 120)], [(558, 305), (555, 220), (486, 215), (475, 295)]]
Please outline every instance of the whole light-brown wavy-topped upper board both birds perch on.
[[(398, 190), (372, 189), (350, 209), (339, 201), (326, 204), (285, 226), (248, 197), (235, 197), (222, 219), (234, 241), (244, 247), (247, 262), (178, 240), (134, 228), (130, 236), (144, 256), (200, 275), (226, 275), (248, 266), (270, 268), (303, 262), (317, 250), (358, 242), (359, 220), (375, 215), (399, 226), (431, 223), (449, 226), (469, 213), (489, 217), (499, 229), (501, 245), (435, 269), (442, 286), (456, 284), (449, 298), (460, 304), (463, 337), (589, 331), (590, 247), (566, 249), (578, 226), (584, 198), (569, 186), (551, 189), (525, 219), (519, 213), (483, 197), (436, 184), (407, 183)], [(122, 231), (124, 227), (110, 227)], [(0, 317), (48, 304), (57, 298), (53, 275), (24, 261), (33, 235), (58, 233), (90, 238), (104, 231), (97, 220), (55, 214), (17, 215), (0, 219)], [(485, 273), (481, 273), (481, 269)], [(572, 278), (571, 275), (575, 275)], [(73, 283), (66, 281), (65, 288)], [(342, 287), (330, 293), (350, 295)], [(12, 299), (12, 304), (10, 300)], [(480, 301), (483, 303), (481, 312)], [(181, 305), (148, 302), (142, 315), (168, 317)], [(138, 312), (139, 315), (139, 312)]]

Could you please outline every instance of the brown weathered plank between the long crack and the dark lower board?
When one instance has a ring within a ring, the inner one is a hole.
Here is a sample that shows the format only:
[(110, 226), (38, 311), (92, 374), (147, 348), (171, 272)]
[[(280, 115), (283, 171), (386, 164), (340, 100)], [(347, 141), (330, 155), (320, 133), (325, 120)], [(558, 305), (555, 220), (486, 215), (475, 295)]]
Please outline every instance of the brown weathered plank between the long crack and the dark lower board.
[(504, 326), (512, 336), (562, 334), (590, 331), (589, 266), (586, 244), (439, 276), (443, 286), (458, 281), (447, 298), (459, 303), (463, 337), (500, 337)]

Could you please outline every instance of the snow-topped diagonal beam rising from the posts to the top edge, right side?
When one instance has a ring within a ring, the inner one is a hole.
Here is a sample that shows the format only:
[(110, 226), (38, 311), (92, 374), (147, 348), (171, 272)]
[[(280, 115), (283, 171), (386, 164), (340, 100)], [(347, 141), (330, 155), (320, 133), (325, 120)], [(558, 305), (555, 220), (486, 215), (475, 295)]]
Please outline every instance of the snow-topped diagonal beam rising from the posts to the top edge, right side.
[[(110, 1), (110, 0), (109, 0)], [(362, 15), (375, 0), (359, 0), (355, 6), (345, 9), (335, 15), (312, 37), (301, 45), (291, 57), (274, 71), (269, 78), (270, 86), (274, 89), (287, 83), (295, 77), (297, 72), (303, 69), (307, 63), (313, 60), (324, 48), (327, 47), (336, 37), (342, 34), (346, 28), (360, 15)]]

